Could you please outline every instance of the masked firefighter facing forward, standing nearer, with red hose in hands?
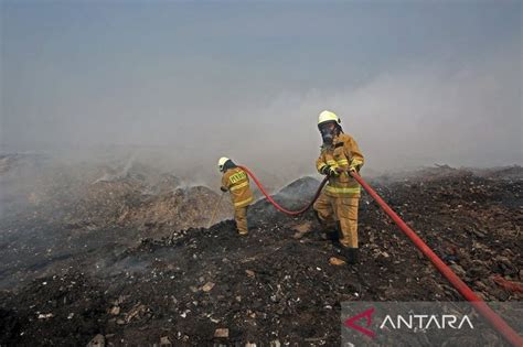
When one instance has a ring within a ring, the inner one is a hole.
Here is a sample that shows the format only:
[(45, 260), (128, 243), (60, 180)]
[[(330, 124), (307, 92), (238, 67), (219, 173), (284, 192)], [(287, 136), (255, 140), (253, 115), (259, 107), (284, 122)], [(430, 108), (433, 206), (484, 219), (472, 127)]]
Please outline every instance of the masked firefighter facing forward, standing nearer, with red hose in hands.
[[(331, 238), (333, 235), (334, 238), (339, 237), (342, 254), (353, 264), (357, 262), (357, 205), (361, 187), (350, 173), (360, 171), (363, 155), (354, 139), (343, 132), (340, 123), (340, 118), (327, 110), (318, 119), (323, 144), (316, 166), (320, 174), (329, 176), (329, 183), (313, 207), (328, 235)], [(337, 236), (338, 220), (341, 235)]]

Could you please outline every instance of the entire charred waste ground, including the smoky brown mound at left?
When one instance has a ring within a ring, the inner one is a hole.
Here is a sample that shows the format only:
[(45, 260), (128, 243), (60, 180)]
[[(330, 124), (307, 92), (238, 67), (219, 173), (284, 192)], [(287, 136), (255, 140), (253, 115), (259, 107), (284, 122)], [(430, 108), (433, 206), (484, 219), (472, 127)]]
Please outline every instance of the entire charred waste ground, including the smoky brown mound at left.
[[(346, 265), (312, 212), (260, 199), (238, 237), (226, 204), (206, 228), (218, 194), (174, 175), (61, 172), (2, 212), (0, 345), (332, 346), (340, 302), (462, 300), (366, 194), (360, 263)], [(370, 183), (478, 295), (523, 299), (522, 167)], [(300, 207), (318, 185), (302, 177), (276, 199)]]

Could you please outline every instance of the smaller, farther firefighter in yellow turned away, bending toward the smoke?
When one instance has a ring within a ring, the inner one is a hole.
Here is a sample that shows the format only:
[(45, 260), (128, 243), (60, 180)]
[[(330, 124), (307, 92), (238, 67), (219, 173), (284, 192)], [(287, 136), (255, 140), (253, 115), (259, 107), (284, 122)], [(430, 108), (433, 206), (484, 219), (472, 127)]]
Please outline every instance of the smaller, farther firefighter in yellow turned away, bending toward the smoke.
[(222, 177), (222, 192), (231, 192), (234, 206), (234, 219), (239, 235), (247, 235), (247, 208), (253, 203), (253, 192), (250, 191), (248, 176), (245, 171), (236, 166), (228, 158), (221, 158), (218, 161)]

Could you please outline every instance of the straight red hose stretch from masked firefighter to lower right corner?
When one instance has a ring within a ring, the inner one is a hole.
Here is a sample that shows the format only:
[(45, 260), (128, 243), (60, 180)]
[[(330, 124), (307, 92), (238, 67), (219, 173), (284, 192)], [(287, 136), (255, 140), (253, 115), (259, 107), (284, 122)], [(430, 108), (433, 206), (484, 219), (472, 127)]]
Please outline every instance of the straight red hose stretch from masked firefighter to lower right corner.
[(353, 173), (352, 176), (360, 183), (363, 188), (376, 200), (383, 210), (394, 220), (403, 232), (416, 245), (416, 247), (433, 262), (436, 269), (449, 280), (456, 290), (467, 299), (472, 306), (513, 346), (522, 347), (523, 338), (521, 338), (514, 329), (512, 329), (502, 317), (500, 317), (492, 308), (487, 305), (474, 292), (461, 281), (456, 273), (410, 229), (405, 221), (377, 195), (376, 192), (363, 178)]

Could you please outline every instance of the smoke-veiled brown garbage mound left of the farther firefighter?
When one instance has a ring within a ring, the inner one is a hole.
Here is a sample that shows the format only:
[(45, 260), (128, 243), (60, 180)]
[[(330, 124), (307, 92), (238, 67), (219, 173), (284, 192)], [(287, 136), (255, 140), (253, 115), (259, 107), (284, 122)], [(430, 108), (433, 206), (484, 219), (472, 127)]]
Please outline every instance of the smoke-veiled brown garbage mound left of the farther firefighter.
[[(114, 166), (54, 164), (36, 172), (25, 169), (26, 164), (22, 165), (19, 156), (6, 155), (7, 169), (2, 176), (4, 181), (10, 180), (9, 184), (13, 183), (11, 186), (17, 183), (23, 186), (23, 191), (12, 192), (19, 203), (20, 199), (25, 203), (24, 208), (17, 206), (17, 212), (23, 214), (11, 214), (19, 219), (32, 215), (42, 224), (77, 230), (125, 226), (172, 232), (207, 226), (211, 221), (209, 212), (214, 210), (220, 198), (206, 186), (186, 185), (173, 174), (134, 160)], [(25, 182), (17, 182), (24, 172), (32, 172), (32, 176), (26, 173)], [(232, 206), (224, 199), (216, 212), (216, 220), (231, 213)]]

